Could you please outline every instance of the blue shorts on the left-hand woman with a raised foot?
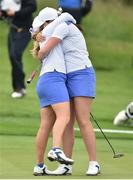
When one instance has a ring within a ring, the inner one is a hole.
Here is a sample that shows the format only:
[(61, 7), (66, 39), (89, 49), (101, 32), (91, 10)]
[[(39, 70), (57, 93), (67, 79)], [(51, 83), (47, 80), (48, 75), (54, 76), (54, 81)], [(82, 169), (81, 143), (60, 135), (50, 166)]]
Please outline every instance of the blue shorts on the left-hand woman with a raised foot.
[(57, 71), (48, 72), (39, 77), (36, 89), (41, 108), (69, 101), (65, 83), (66, 75)]

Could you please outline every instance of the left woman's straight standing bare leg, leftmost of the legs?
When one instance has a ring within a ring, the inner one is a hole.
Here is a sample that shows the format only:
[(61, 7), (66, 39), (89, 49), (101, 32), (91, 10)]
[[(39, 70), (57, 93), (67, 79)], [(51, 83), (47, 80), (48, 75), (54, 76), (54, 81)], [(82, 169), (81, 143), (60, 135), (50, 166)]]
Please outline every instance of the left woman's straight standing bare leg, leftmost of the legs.
[(55, 115), (50, 106), (41, 109), (40, 114), (41, 114), (41, 123), (36, 136), (37, 163), (44, 162), (44, 153), (47, 146), (48, 136), (55, 121)]

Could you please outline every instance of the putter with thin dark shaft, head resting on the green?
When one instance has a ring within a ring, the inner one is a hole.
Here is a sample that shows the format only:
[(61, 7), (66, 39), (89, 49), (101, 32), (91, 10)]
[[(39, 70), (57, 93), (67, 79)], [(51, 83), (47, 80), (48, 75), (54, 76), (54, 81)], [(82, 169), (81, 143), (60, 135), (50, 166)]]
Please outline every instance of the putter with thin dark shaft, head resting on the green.
[(100, 129), (101, 133), (103, 134), (104, 138), (106, 139), (107, 143), (109, 144), (112, 152), (113, 152), (113, 158), (120, 158), (122, 156), (124, 156), (124, 154), (122, 153), (116, 153), (113, 146), (111, 145), (111, 143), (109, 142), (108, 138), (106, 137), (105, 133), (103, 132), (102, 128), (99, 126), (98, 122), (96, 121), (96, 119), (94, 118), (94, 116), (92, 115), (92, 113), (90, 113), (91, 118), (93, 119), (93, 121), (96, 123), (96, 125), (98, 126), (98, 128)]

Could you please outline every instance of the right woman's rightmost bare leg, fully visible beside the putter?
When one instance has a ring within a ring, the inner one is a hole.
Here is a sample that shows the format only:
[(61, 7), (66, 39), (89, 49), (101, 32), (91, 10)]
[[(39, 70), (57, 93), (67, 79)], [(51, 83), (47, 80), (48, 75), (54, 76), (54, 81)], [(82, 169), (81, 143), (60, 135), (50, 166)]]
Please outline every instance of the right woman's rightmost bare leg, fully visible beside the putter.
[(80, 131), (89, 155), (90, 161), (96, 161), (96, 140), (93, 126), (90, 121), (92, 99), (88, 97), (75, 97), (75, 113)]

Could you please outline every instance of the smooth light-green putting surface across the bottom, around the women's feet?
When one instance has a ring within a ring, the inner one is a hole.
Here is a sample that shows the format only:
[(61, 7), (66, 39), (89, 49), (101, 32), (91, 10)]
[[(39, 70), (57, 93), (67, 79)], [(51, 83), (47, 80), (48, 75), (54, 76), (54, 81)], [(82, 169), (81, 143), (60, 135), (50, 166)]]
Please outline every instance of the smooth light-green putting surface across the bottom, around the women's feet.
[[(2, 179), (36, 179), (32, 175), (35, 165), (34, 137), (26, 136), (0, 136), (0, 178)], [(112, 140), (116, 151), (121, 150), (125, 156), (119, 159), (112, 158), (112, 152), (108, 148), (104, 139), (97, 140), (97, 157), (101, 164), (101, 174), (93, 179), (132, 179), (132, 148), (131, 140)], [(51, 138), (49, 146), (51, 145)], [(130, 148), (129, 148), (130, 146)], [(48, 150), (47, 149), (47, 150)], [(81, 139), (76, 138), (73, 158), (73, 175), (63, 177), (63, 179), (90, 179), (85, 176), (88, 168), (88, 158), (85, 147)], [(57, 163), (51, 163), (46, 159), (49, 169), (57, 167)], [(51, 179), (52, 176), (39, 177), (39, 179)], [(62, 177), (54, 177), (62, 179)]]

